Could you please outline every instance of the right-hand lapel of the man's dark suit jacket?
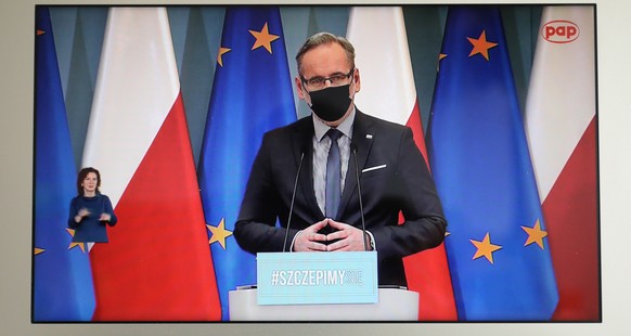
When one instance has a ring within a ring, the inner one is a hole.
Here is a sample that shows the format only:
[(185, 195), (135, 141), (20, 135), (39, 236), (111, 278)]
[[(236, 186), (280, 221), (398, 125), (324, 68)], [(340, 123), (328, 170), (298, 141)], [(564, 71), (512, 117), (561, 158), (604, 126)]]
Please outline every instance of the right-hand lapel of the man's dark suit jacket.
[[(352, 141), (350, 145), (350, 157), (348, 163), (348, 171), (346, 172), (346, 182), (344, 185), (344, 192), (342, 193), (342, 201), (339, 203), (339, 214), (337, 218), (343, 218), (348, 203), (352, 195), (357, 193), (357, 171), (361, 177), (361, 170), (365, 166), (369, 153), (373, 144), (373, 127), (370, 119), (365, 117), (364, 114), (357, 111), (355, 117), (355, 124), (352, 126)], [(352, 150), (357, 148), (357, 168), (356, 168), (356, 156)], [(357, 169), (357, 170), (356, 170)]]

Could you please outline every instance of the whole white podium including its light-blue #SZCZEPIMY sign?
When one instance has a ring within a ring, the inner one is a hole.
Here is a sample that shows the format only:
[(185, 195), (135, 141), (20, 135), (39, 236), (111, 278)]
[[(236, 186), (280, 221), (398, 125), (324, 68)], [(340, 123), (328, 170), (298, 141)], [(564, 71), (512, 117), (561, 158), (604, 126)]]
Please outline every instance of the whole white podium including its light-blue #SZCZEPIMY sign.
[(231, 321), (418, 320), (418, 293), (377, 286), (376, 251), (259, 253), (257, 283), (228, 293)]

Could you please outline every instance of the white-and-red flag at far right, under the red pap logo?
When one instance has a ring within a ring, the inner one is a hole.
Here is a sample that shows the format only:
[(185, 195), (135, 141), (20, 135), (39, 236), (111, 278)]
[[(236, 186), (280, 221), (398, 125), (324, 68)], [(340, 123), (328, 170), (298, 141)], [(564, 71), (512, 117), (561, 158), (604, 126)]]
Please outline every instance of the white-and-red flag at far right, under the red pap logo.
[(544, 8), (525, 124), (559, 290), (556, 321), (601, 316), (594, 48), (592, 7)]

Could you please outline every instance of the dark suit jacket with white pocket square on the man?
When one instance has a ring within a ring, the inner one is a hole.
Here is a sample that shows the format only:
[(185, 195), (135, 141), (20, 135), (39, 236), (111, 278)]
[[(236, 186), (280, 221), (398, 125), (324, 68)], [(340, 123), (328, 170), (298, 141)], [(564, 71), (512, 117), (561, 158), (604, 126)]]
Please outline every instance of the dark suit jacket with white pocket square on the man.
[[(312, 137), (311, 116), (263, 135), (234, 229), (243, 249), (253, 254), (283, 250), (302, 154), (286, 249), (299, 230), (325, 218), (313, 191)], [(407, 285), (402, 257), (436, 247), (445, 238), (447, 223), (434, 181), (410, 128), (357, 111), (351, 148), (357, 148), (365, 228), (375, 238), (378, 282)], [(401, 225), (399, 211), (405, 218)], [(274, 227), (276, 218), (282, 228)], [(352, 153), (336, 220), (361, 229)]]

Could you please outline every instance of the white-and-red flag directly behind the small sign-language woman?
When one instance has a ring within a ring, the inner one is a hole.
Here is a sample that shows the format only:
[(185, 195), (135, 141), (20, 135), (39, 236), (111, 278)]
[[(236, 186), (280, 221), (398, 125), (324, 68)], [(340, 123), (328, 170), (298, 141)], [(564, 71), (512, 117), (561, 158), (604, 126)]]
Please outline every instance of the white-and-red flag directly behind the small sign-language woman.
[(166, 9), (110, 10), (83, 166), (118, 217), (90, 251), (93, 320), (219, 320)]

